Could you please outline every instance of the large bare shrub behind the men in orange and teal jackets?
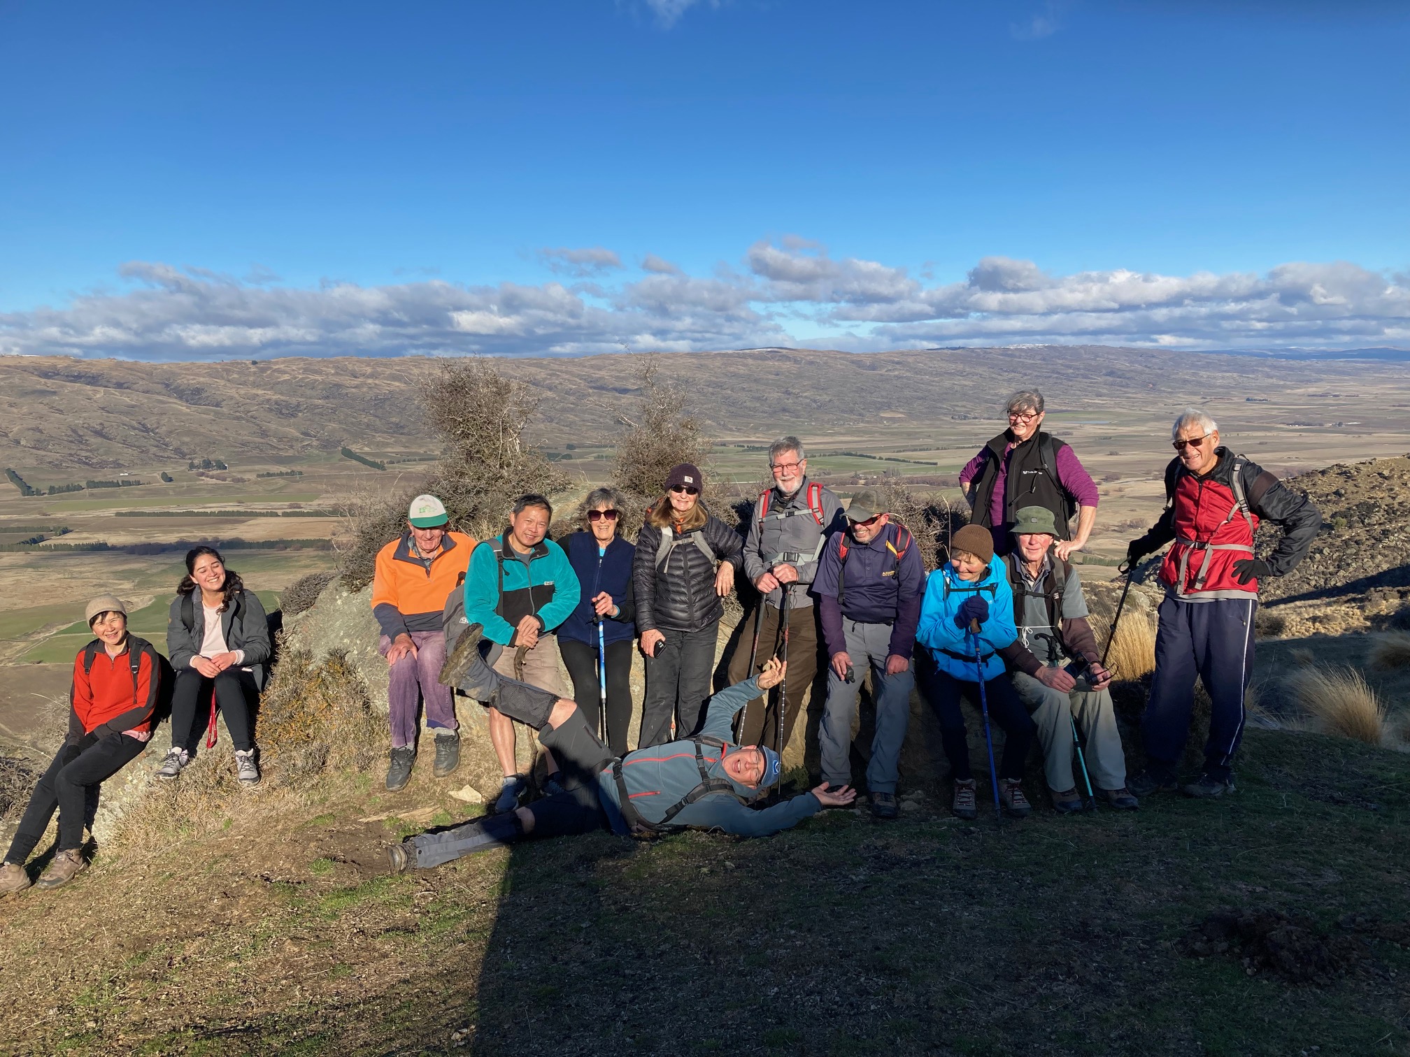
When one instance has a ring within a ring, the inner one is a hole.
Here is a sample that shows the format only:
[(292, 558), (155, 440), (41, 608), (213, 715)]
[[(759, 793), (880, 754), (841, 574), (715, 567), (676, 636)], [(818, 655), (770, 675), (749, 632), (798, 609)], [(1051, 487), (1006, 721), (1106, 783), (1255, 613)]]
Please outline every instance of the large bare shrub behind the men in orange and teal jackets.
[(450, 527), (485, 538), (499, 533), (509, 507), (526, 492), (553, 496), (568, 476), (523, 438), (540, 397), (526, 382), (505, 378), (488, 359), (447, 361), (422, 388), (426, 421), (444, 451), (434, 472), (415, 488), (372, 497), (350, 509), (354, 544), (343, 557), (343, 583), (372, 581), (376, 551), (405, 527), (417, 492), (446, 503)]

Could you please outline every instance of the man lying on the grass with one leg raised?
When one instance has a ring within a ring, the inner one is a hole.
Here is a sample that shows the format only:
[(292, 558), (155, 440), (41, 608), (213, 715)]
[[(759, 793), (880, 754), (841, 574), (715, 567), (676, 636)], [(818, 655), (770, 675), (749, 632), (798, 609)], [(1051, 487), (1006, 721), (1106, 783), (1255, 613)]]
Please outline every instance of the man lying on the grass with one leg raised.
[(625, 836), (688, 827), (763, 837), (822, 808), (845, 808), (856, 798), (856, 791), (846, 786), (828, 792), (823, 782), (771, 808), (750, 806), (778, 778), (781, 764), (770, 748), (732, 744), (730, 722), (746, 702), (784, 678), (785, 665), (777, 658), (753, 679), (711, 698), (695, 737), (640, 748), (619, 760), (592, 733), (577, 702), (491, 671), (479, 655), (479, 624), (461, 633), (441, 681), (536, 727), (539, 741), (558, 761), (564, 792), (505, 815), (393, 844), (388, 854), (395, 872), (439, 867), (516, 840), (599, 829)]

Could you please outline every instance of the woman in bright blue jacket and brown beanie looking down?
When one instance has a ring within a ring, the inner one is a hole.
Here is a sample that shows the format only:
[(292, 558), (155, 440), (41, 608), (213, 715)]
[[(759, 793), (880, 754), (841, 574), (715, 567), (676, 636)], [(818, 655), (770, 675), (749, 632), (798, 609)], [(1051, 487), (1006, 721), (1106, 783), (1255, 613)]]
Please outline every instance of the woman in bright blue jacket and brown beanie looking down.
[(1036, 727), (1004, 669), (1001, 651), (1008, 651), (1018, 641), (1014, 592), (1008, 586), (1003, 560), (994, 557), (987, 528), (969, 524), (955, 533), (949, 564), (932, 572), (925, 588), (915, 638), (926, 648), (931, 661), (918, 674), (921, 688), (940, 720), (940, 743), (955, 781), (952, 810), (962, 819), (979, 816), (960, 696), (979, 706), (983, 665), (988, 715), (1004, 731), (998, 799), (1011, 816), (1025, 817), (1032, 808), (1022, 789), (1024, 762)]

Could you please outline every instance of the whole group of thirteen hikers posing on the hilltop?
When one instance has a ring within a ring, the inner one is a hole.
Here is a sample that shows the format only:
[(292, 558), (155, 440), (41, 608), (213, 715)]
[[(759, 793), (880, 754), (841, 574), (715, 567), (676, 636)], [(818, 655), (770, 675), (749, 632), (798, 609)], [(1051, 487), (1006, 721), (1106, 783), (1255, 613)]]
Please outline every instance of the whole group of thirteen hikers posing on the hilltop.
[[(503, 779), (484, 817), (393, 844), (393, 870), (596, 829), (763, 836), (850, 805), (852, 727), (867, 674), (876, 723), (866, 789), (878, 819), (898, 815), (912, 688), (939, 719), (952, 810), (962, 819), (979, 815), (962, 698), (980, 709), (994, 806), (1011, 817), (1032, 810), (1022, 778), (1035, 740), (1049, 799), (1062, 813), (1091, 799), (1132, 810), (1159, 792), (1232, 791), (1259, 581), (1303, 558), (1321, 524), (1316, 507), (1222, 447), (1206, 413), (1176, 419), (1165, 512), (1128, 545), (1124, 567), (1170, 544), (1159, 569), (1166, 595), (1142, 719), (1146, 762), (1128, 779), (1112, 675), (1070, 562), (1096, 523), (1097, 488), (1072, 447), (1041, 428), (1039, 392), (1014, 393), (1005, 413), (1007, 428), (960, 474), (970, 524), (953, 533), (948, 560), (929, 575), (909, 530), (876, 492), (857, 492), (843, 506), (809, 479), (797, 437), (770, 447), (773, 486), (740, 531), (705, 507), (704, 478), (689, 464), (670, 471), (634, 545), (622, 536), (625, 500), (611, 488), (588, 493), (578, 531), (561, 541), (547, 538), (553, 506), (541, 495), (520, 496), (503, 533), (485, 541), (453, 531), (440, 499), (417, 496), (405, 531), (376, 555), (372, 586), (389, 665), (386, 789), (410, 781), (422, 713), (434, 731), (433, 774), (455, 771), (457, 692), (485, 707)], [(1255, 536), (1263, 521), (1282, 537), (1261, 558)], [(204, 699), (212, 729), (214, 710), (226, 715), (238, 779), (255, 784), (248, 707), (269, 658), (264, 612), (212, 548), (193, 550), (186, 568), (168, 629), (176, 671), (172, 748), (158, 775), (176, 778), (189, 762)], [(712, 696), (722, 600), (737, 574), (759, 605), (737, 631), (730, 685)], [(87, 617), (97, 638), (75, 660), (69, 737), (35, 788), (0, 870), (0, 894), (28, 886), (24, 863), (55, 808), (58, 853), (38, 884), (63, 884), (83, 868), (86, 791), (149, 737), (159, 658), (125, 633), (117, 599), (94, 599)], [(646, 671), (634, 750), (633, 643)], [(781, 754), (821, 665), (821, 782), (783, 799)], [(1196, 676), (1213, 715), (1201, 772), (1180, 785)], [(537, 798), (516, 762), (515, 722), (537, 730), (544, 748)], [(991, 722), (1004, 731), (997, 765)]]

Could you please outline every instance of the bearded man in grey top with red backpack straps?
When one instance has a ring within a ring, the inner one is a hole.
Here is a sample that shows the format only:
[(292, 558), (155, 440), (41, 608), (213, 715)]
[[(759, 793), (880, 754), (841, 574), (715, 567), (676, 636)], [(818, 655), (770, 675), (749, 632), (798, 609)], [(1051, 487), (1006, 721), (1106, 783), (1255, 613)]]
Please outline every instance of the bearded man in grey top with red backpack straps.
[[(783, 610), (788, 610), (788, 681), (783, 744), (778, 741), (778, 702), (744, 709), (740, 743), (768, 746), (781, 753), (792, 736), (802, 696), (818, 674), (818, 617), (808, 588), (818, 572), (823, 541), (843, 528), (842, 500), (808, 481), (802, 441), (783, 437), (768, 448), (774, 486), (761, 492), (749, 519), (744, 541), (744, 575), (763, 596), (744, 624), (743, 637), (729, 662), (730, 682), (743, 682), (760, 671), (764, 658), (783, 653)], [(756, 627), (759, 654), (749, 671)]]

